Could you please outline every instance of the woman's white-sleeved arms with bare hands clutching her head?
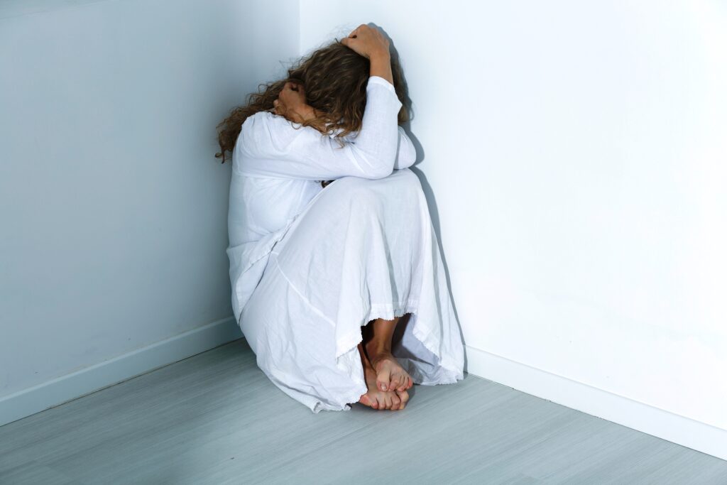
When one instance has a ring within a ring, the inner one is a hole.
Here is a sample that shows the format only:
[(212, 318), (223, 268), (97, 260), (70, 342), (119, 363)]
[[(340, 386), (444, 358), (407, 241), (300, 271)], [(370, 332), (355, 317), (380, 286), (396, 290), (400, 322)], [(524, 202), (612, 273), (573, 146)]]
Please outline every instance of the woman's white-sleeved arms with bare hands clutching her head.
[(341, 147), (313, 127), (296, 129), (278, 116), (281, 108), (281, 113), (289, 111), (293, 121), (300, 121), (313, 111), (305, 105), (303, 87), (286, 84), (279, 96), (284, 105), (274, 103), (276, 113), (255, 113), (242, 125), (235, 148), (239, 172), (308, 180), (349, 175), (377, 179), (414, 163), (411, 140), (397, 124), (401, 101), (393, 86), (389, 41), (378, 28), (359, 25), (341, 43), (369, 59), (366, 109), (353, 140)]

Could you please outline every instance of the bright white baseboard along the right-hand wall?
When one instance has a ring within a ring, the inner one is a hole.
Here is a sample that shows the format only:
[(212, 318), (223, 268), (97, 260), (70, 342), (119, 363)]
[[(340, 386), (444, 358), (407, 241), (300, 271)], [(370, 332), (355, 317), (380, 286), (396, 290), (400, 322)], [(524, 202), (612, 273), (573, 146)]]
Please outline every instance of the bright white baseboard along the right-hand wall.
[(727, 430), (467, 345), (467, 372), (727, 460)]

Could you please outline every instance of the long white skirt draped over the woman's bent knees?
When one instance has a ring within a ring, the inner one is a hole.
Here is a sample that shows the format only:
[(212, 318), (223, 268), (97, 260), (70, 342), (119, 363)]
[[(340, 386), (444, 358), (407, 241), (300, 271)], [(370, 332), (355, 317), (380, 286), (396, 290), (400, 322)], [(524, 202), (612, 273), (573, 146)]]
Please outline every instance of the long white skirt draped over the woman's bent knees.
[(410, 169), (321, 190), (270, 252), (240, 325), (257, 365), (313, 412), (366, 393), (361, 326), (402, 318), (392, 353), (421, 385), (463, 378), (464, 346), (419, 178)]

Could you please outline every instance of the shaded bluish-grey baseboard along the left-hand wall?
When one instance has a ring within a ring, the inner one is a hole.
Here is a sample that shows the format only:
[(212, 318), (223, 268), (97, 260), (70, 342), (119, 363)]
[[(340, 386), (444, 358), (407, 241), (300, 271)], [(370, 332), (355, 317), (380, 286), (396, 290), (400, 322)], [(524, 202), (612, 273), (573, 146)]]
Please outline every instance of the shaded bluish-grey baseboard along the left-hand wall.
[(0, 398), (0, 426), (181, 361), (227, 342), (242, 332), (230, 316), (122, 356)]

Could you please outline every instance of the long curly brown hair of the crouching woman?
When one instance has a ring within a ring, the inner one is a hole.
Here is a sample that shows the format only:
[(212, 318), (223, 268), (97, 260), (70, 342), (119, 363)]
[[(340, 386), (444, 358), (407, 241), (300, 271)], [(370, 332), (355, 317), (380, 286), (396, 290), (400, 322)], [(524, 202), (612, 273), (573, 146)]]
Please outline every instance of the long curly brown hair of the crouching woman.
[[(401, 101), (398, 124), (409, 121), (409, 111), (404, 105), (406, 85), (398, 57), (391, 56), (391, 72), (394, 89)], [(258, 111), (273, 109), (273, 101), (287, 81), (300, 83), (305, 88), (305, 101), (321, 113), (316, 119), (305, 121), (299, 126), (312, 126), (321, 135), (335, 135), (343, 145), (342, 138), (361, 129), (361, 120), (366, 108), (366, 84), (369, 81), (369, 60), (358, 55), (336, 39), (331, 44), (317, 49), (308, 57), (298, 60), (288, 69), (288, 77), (258, 86), (259, 92), (247, 96), (247, 104), (230, 111), (227, 118), (217, 125), (217, 141), (220, 152), (215, 158), (222, 158), (235, 147), (242, 124), (248, 116)]]

